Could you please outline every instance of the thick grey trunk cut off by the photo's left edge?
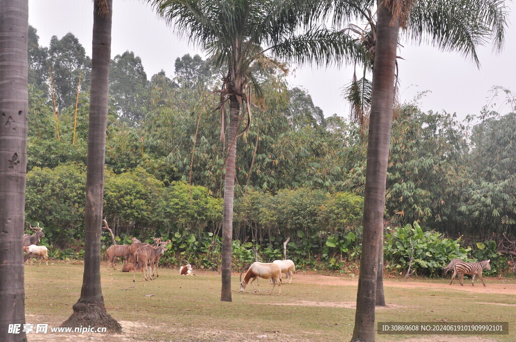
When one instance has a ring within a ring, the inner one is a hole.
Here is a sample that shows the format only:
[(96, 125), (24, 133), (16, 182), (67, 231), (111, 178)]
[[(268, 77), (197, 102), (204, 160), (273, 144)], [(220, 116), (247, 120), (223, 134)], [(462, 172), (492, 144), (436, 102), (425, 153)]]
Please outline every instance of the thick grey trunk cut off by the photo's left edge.
[[(0, 1), (0, 339), (27, 341), (23, 274), (28, 0)], [(18, 334), (9, 324), (21, 324)]]

